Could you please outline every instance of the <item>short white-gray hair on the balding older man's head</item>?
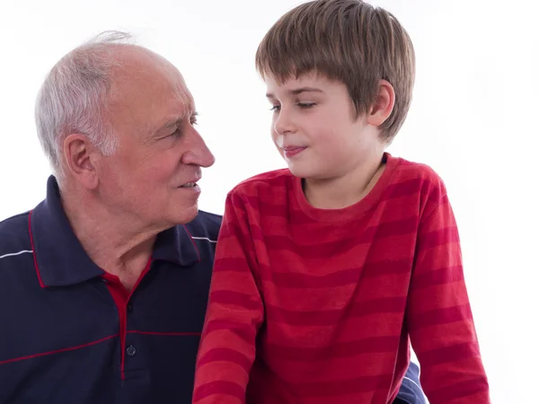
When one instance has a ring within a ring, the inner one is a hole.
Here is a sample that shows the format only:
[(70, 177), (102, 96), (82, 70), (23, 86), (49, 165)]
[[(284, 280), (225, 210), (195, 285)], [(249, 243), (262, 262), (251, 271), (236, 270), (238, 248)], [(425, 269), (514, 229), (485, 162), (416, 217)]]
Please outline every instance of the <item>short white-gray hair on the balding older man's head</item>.
[(122, 31), (104, 31), (62, 57), (38, 93), (35, 120), (40, 143), (59, 183), (64, 180), (62, 145), (66, 136), (84, 134), (102, 152), (113, 154), (118, 139), (106, 118), (112, 55), (117, 44), (131, 43)]

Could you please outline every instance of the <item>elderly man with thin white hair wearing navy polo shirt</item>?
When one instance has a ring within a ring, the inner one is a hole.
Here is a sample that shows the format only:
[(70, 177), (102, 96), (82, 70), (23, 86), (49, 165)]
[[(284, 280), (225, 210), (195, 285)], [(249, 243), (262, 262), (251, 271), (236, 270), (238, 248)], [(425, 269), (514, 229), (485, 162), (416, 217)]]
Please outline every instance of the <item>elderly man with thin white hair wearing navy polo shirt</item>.
[(214, 157), (180, 72), (127, 40), (75, 48), (40, 90), (55, 175), (0, 224), (0, 403), (190, 403), (221, 223), (197, 181)]

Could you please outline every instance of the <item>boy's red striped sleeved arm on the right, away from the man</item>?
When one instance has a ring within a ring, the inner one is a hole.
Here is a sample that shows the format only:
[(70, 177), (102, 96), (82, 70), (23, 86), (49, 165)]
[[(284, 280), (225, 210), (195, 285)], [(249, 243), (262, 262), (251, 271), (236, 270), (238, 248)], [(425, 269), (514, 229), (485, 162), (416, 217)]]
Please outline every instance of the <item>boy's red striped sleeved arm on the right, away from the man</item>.
[(432, 190), (420, 220), (406, 316), (429, 402), (490, 403), (455, 216), (443, 184)]

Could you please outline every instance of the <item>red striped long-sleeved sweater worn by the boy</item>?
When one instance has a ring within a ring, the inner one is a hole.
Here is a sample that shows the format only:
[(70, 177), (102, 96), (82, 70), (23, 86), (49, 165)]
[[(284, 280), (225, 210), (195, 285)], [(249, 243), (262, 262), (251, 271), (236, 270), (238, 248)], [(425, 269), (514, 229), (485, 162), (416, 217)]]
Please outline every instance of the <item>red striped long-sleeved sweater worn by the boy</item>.
[(410, 341), (431, 404), (490, 402), (444, 184), (386, 158), (339, 210), (287, 170), (228, 194), (193, 402), (390, 403)]

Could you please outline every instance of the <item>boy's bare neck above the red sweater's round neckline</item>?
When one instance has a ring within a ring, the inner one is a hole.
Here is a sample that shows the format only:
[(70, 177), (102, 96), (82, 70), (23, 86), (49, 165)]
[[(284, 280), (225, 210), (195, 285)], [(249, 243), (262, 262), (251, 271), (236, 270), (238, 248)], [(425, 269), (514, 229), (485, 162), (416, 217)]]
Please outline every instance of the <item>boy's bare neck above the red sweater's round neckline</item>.
[(357, 204), (374, 188), (385, 169), (383, 155), (359, 165), (356, 170), (328, 180), (304, 179), (305, 198), (319, 209), (341, 209)]

